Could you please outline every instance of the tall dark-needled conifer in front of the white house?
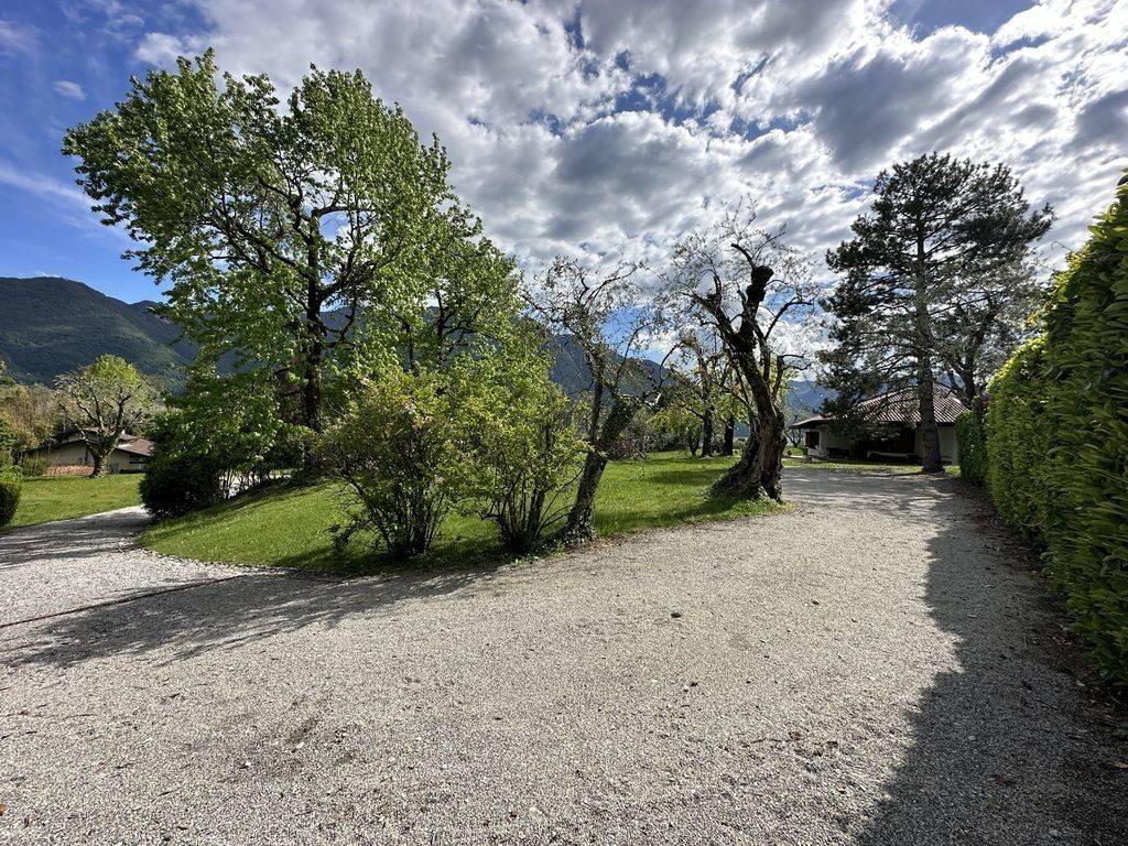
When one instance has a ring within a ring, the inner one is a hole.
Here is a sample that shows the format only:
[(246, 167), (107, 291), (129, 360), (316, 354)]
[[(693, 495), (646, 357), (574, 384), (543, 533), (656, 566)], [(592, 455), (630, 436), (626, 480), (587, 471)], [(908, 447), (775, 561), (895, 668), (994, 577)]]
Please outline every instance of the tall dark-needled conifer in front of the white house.
[(828, 409), (848, 416), (866, 394), (915, 387), (924, 469), (935, 472), (935, 380), (946, 362), (960, 379), (980, 384), (982, 344), (999, 335), (998, 309), (1015, 291), (1025, 298), (1012, 274), (1054, 214), (1048, 205), (1031, 211), (1003, 165), (938, 153), (883, 170), (873, 193), (854, 238), (827, 254), (844, 276), (823, 300), (835, 343), (823, 356), (826, 382), (837, 393)]

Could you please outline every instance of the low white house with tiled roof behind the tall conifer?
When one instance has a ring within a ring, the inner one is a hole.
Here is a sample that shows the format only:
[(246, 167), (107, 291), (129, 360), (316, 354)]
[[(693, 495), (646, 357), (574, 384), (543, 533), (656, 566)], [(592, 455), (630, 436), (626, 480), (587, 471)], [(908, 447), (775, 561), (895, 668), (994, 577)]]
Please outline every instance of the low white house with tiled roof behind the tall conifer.
[[(937, 385), (936, 425), (940, 429), (940, 455), (944, 461), (959, 461), (955, 418), (967, 406), (949, 388)], [(791, 425), (803, 433), (807, 455), (814, 458), (919, 459), (924, 451), (920, 435), (920, 409), (916, 389), (881, 394), (858, 403), (858, 417), (870, 425), (865, 435), (848, 438), (835, 431), (835, 418), (816, 414)]]

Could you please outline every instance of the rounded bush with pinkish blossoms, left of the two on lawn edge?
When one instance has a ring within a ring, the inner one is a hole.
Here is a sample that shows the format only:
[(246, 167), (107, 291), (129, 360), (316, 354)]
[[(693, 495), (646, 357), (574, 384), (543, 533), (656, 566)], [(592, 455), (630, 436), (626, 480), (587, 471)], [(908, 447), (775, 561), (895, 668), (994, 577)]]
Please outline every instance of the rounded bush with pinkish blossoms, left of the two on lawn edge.
[(338, 544), (370, 531), (395, 557), (426, 552), (457, 499), (466, 466), (453, 444), (451, 391), (426, 371), (390, 371), (364, 386), (318, 446), (345, 483)]

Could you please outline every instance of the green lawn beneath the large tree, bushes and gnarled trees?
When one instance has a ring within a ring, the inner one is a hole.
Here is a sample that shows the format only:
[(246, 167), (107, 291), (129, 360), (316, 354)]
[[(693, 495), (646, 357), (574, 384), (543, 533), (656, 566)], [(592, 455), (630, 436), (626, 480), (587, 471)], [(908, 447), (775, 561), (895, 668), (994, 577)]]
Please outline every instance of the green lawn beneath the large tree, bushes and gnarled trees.
[[(786, 510), (767, 502), (717, 502), (706, 486), (731, 459), (658, 453), (645, 461), (613, 462), (600, 485), (596, 526), (601, 536), (654, 526), (725, 520)], [(213, 509), (153, 526), (141, 544), (157, 552), (202, 561), (303, 570), (356, 572), (385, 562), (362, 543), (336, 553), (328, 528), (341, 520), (336, 488), (283, 486), (240, 496)], [(485, 562), (501, 552), (492, 525), (452, 514), (442, 527), (433, 563)]]

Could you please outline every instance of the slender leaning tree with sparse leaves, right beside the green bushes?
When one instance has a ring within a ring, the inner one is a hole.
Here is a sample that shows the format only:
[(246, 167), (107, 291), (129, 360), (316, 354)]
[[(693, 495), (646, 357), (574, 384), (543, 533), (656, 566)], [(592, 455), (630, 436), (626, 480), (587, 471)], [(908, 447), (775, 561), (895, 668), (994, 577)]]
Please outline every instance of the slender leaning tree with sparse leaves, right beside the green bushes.
[(579, 347), (589, 380), (588, 456), (562, 532), (569, 544), (594, 536), (596, 492), (608, 453), (638, 409), (656, 398), (654, 379), (637, 358), (655, 326), (638, 287), (641, 271), (640, 264), (624, 263), (601, 272), (557, 257), (529, 297), (549, 331)]

